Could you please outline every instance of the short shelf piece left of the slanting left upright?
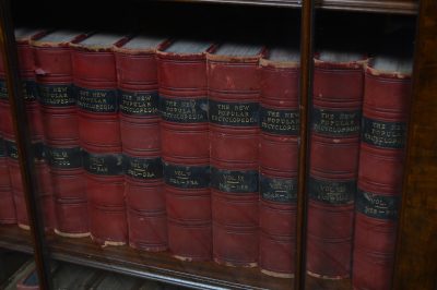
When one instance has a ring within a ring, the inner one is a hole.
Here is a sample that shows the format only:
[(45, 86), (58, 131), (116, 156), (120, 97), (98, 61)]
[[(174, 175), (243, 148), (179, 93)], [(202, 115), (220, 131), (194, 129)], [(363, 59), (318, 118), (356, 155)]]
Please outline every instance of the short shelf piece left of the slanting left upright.
[(28, 253), (34, 252), (31, 232), (20, 229), (16, 225), (0, 226), (0, 247)]

